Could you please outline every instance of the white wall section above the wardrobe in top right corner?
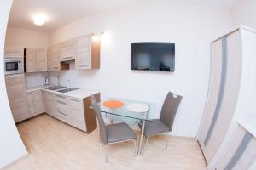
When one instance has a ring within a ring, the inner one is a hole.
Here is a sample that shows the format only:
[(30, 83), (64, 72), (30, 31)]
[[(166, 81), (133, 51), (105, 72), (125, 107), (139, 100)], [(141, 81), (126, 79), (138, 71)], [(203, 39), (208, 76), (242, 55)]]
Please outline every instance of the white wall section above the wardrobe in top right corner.
[(239, 0), (231, 10), (234, 26), (245, 25), (256, 29), (256, 1)]

